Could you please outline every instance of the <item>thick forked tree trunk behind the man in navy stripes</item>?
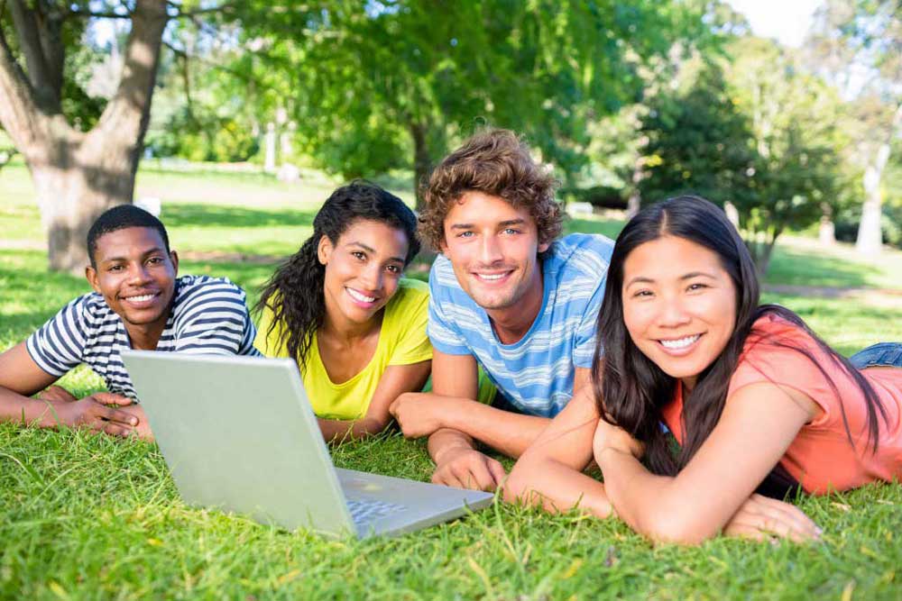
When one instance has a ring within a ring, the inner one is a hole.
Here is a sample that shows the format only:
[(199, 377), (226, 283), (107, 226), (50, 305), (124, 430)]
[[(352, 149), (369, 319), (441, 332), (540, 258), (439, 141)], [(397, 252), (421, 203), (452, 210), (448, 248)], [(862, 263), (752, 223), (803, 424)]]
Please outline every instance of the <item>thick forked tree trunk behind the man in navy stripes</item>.
[[(26, 10), (21, 2), (15, 5), (23, 11), (23, 26), (32, 23), (34, 14), (28, 13), (32, 9)], [(119, 87), (87, 133), (72, 128), (54, 107), (52, 96), (49, 100), (46, 93), (37, 91), (56, 84), (52, 76), (61, 72), (62, 51), (41, 52), (33, 39), (23, 38), (29, 32), (17, 27), (20, 42), (31, 49), (29, 76), (38, 79), (29, 81), (0, 32), (0, 92), (5, 96), (0, 123), (32, 172), (53, 270), (83, 274), (91, 223), (110, 206), (132, 202), (162, 32), (169, 21), (166, 10), (166, 0), (135, 3)], [(51, 75), (37, 77), (32, 62), (42, 64)]]

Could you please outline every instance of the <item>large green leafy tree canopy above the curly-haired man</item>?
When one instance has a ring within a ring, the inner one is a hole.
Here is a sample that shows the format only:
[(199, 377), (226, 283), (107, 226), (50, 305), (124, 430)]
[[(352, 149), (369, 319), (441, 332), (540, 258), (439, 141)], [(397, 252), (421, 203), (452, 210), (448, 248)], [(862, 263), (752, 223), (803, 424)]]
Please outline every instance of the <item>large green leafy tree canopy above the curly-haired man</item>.
[(419, 182), (483, 124), (526, 133), (575, 172), (586, 123), (639, 96), (642, 62), (701, 27), (689, 5), (266, 3), (243, 20), (263, 47), (255, 78), (288, 77), (276, 86), (311, 154), (345, 177), (412, 166)]

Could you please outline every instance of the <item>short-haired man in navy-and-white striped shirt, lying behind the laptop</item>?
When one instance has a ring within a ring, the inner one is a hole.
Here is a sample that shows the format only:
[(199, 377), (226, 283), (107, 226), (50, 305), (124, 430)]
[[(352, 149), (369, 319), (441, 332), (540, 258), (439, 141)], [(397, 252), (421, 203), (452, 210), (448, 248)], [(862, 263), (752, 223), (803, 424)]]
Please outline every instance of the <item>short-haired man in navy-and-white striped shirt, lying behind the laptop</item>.
[[(226, 278), (178, 278), (179, 257), (152, 214), (134, 205), (109, 209), (87, 233), (87, 252), (94, 292), (0, 354), (0, 419), (150, 439), (120, 351), (259, 354), (244, 291)], [(53, 386), (81, 363), (104, 379), (107, 392), (77, 399)]]

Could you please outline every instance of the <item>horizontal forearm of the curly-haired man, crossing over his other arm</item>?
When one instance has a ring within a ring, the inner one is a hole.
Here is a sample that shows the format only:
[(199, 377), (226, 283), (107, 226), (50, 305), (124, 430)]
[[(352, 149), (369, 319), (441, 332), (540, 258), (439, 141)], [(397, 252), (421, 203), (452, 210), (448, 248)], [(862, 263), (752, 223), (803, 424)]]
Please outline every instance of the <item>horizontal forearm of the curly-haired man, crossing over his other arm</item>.
[(514, 459), (548, 427), (547, 417), (514, 414), (466, 398), (448, 398), (442, 424)]

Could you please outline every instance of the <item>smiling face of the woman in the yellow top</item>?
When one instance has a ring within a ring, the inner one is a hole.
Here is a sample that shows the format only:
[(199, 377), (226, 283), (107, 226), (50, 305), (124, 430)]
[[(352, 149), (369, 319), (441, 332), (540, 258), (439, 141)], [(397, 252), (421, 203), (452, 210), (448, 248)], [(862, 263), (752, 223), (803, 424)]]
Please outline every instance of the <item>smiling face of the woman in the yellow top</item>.
[(370, 220), (349, 225), (335, 244), (320, 238), (328, 318), (339, 326), (373, 319), (398, 289), (408, 243), (401, 230)]

